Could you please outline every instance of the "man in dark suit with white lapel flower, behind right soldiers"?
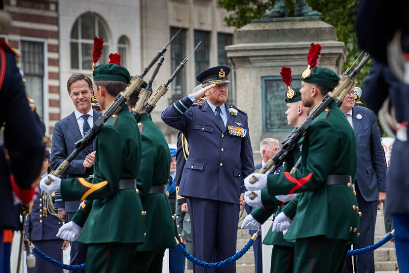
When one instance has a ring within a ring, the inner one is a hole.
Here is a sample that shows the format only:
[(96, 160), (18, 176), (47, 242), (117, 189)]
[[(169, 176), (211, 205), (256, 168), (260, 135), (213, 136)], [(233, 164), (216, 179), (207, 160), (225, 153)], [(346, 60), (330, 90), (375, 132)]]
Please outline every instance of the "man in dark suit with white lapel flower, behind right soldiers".
[[(345, 96), (340, 109), (355, 131), (357, 139), (357, 173), (355, 192), (359, 211), (362, 213), (358, 243), (354, 248), (373, 244), (376, 209), (385, 201), (386, 161), (381, 144), (380, 131), (372, 110), (355, 105), (357, 95), (354, 87)], [(354, 256), (355, 272), (374, 273), (373, 252)], [(353, 272), (351, 258), (347, 259), (346, 272)]]

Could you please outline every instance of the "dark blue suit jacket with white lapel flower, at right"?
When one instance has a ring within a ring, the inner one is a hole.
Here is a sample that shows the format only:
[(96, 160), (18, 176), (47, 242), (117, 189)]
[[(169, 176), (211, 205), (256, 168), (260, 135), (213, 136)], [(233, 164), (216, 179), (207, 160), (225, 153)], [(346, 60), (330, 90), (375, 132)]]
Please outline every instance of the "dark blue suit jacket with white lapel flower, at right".
[(367, 201), (377, 200), (378, 192), (386, 191), (386, 160), (375, 114), (368, 108), (355, 106), (352, 126), (357, 138), (356, 180), (360, 192)]

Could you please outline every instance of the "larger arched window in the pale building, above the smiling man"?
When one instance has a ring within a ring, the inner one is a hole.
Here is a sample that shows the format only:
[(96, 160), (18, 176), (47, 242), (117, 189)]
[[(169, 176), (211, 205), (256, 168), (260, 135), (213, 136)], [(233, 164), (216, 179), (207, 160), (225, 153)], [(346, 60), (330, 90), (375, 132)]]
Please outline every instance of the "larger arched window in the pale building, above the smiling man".
[(107, 28), (100, 17), (95, 14), (86, 13), (76, 19), (71, 30), (71, 68), (78, 70), (91, 70), (92, 49), (94, 47), (94, 36), (105, 39), (104, 49), (99, 62), (108, 62), (108, 40)]

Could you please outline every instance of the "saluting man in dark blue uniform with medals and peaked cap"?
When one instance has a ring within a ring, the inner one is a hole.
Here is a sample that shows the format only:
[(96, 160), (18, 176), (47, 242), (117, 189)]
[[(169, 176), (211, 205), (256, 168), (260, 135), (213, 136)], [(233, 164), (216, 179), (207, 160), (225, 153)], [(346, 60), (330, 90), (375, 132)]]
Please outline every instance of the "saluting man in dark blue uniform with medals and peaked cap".
[[(189, 141), (179, 195), (189, 197), (196, 258), (223, 261), (236, 252), (242, 178), (254, 170), (246, 113), (227, 106), (230, 68), (213, 67), (196, 79), (203, 88), (171, 104), (161, 115)], [(206, 102), (194, 104), (206, 94)], [(200, 272), (235, 272), (235, 264)]]

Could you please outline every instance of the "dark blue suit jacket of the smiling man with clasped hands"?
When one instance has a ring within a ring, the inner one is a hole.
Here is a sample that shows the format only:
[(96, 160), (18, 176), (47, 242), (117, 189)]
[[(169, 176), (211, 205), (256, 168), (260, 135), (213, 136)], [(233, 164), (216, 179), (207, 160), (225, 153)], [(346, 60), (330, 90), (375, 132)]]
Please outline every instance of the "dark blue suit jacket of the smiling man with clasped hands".
[[(94, 122), (101, 116), (101, 113), (92, 110), (94, 113)], [(71, 115), (64, 117), (54, 126), (53, 143), (51, 147), (51, 169), (55, 170), (61, 162), (66, 159), (75, 149), (75, 142), (82, 138), (78, 128), (74, 112)], [(97, 139), (94, 139), (92, 151), (95, 151)], [(93, 174), (93, 167), (84, 170), (82, 165), (84, 158), (88, 155), (86, 151), (81, 151), (71, 162), (70, 166), (65, 171), (63, 177), (88, 177)], [(66, 212), (76, 212), (80, 201), (70, 201), (65, 203)], [(56, 202), (56, 207), (62, 209), (60, 204)]]

